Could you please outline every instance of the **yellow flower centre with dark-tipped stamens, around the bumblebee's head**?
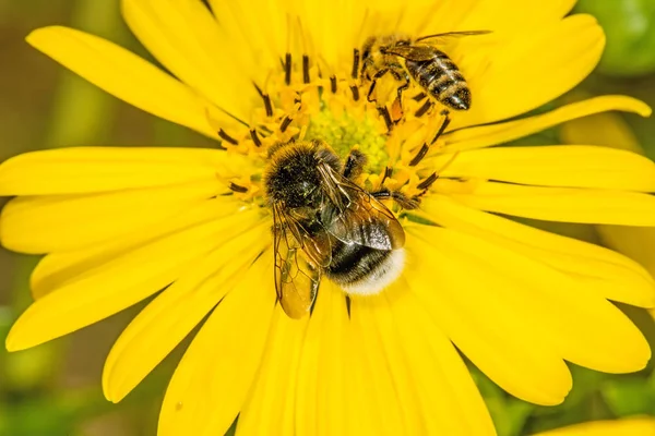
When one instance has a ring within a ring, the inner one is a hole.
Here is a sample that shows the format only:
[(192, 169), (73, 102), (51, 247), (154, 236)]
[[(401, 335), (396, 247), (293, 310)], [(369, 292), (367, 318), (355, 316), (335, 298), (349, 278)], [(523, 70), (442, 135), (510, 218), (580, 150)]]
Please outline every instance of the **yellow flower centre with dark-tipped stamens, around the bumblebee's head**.
[(366, 190), (383, 184), (409, 197), (427, 192), (437, 174), (425, 158), (442, 144), (444, 117), (439, 105), (415, 83), (401, 96), (402, 84), (391, 74), (376, 80), (373, 93), (371, 81), (355, 74), (355, 69), (353, 74), (325, 78), (308, 57), (298, 63), (286, 57), (283, 68), (258, 87), (261, 101), (253, 109), (251, 128), (218, 132), (222, 147), (253, 162), (245, 170), (249, 173), (227, 181), (235, 195), (263, 204), (261, 182), (270, 147), (311, 140), (325, 142), (342, 161), (353, 149), (364, 154), (367, 165), (358, 183)]

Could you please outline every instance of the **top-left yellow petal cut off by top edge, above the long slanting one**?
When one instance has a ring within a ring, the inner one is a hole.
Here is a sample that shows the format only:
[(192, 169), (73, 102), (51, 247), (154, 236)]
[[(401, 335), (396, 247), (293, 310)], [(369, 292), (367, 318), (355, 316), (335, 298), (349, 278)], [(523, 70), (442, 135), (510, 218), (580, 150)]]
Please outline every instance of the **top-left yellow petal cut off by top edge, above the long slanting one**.
[[(248, 122), (259, 98), (206, 7), (194, 0), (122, 0), (126, 22), (168, 71), (217, 107)], [(257, 15), (257, 13), (252, 13)]]

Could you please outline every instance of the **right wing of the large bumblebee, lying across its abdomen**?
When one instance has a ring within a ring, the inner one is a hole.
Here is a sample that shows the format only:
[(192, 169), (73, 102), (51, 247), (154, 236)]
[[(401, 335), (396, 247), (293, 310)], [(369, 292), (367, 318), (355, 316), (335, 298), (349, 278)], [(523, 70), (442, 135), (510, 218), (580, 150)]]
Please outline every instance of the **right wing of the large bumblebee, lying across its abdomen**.
[(348, 192), (348, 206), (341, 211), (332, 207), (321, 211), (321, 220), (330, 234), (345, 243), (377, 250), (405, 245), (403, 227), (391, 210), (349, 181), (344, 180), (342, 186)]

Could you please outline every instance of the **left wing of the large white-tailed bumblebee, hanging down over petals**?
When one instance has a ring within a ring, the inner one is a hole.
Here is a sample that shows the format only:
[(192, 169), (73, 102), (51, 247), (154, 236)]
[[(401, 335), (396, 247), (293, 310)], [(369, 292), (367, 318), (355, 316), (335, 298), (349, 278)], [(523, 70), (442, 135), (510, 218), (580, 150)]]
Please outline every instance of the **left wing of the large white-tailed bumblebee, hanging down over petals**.
[(301, 230), (293, 221), (283, 219), (277, 207), (273, 207), (273, 220), (277, 300), (290, 318), (299, 319), (309, 313), (313, 304), (321, 271), (308, 262), (307, 252), (294, 235)]

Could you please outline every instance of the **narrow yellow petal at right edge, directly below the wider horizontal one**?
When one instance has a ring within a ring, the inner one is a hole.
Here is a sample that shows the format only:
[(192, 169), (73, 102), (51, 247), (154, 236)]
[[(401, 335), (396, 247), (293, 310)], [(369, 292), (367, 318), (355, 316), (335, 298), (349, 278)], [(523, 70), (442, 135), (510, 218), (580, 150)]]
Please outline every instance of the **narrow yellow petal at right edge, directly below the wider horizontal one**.
[(523, 186), (508, 183), (438, 181), (438, 190), (467, 206), (546, 221), (655, 226), (655, 197), (621, 191)]

